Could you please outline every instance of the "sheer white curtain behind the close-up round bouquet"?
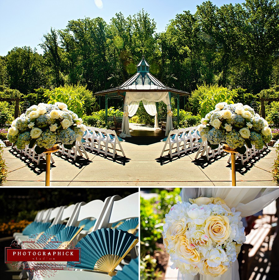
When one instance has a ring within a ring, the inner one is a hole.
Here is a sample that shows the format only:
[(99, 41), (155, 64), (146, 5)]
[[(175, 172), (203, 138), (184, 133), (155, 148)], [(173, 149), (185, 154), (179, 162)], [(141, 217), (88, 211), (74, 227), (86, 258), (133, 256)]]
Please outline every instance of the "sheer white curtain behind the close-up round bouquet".
[[(228, 207), (235, 207), (241, 212), (241, 217), (254, 215), (262, 210), (273, 200), (279, 197), (279, 188), (183, 188), (182, 201), (197, 197), (220, 197), (224, 199)], [(179, 280), (215, 280), (210, 275), (178, 275)], [(238, 262), (235, 261), (230, 269), (218, 280), (239, 280)]]

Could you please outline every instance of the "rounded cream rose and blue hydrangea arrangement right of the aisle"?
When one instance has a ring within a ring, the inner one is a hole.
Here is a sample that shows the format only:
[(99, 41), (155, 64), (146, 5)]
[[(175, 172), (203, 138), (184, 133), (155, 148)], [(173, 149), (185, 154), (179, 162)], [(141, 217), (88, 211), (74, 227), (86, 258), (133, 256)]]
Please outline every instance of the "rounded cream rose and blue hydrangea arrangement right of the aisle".
[(254, 109), (241, 103), (228, 104), (221, 102), (215, 105), (215, 110), (206, 114), (198, 125), (202, 140), (216, 149), (220, 143), (227, 144), (240, 154), (255, 145), (262, 149), (272, 138), (268, 122)]

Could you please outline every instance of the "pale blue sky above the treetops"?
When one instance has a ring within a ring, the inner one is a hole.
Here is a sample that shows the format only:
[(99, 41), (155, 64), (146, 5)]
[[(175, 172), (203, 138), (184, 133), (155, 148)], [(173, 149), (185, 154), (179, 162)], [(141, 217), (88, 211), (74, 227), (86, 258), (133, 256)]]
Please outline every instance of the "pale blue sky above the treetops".
[[(204, 0), (205, 1), (205, 0)], [(118, 12), (127, 17), (142, 8), (157, 23), (157, 32), (165, 30), (169, 20), (183, 11), (195, 13), (203, 0), (0, 0), (0, 55), (13, 47), (35, 47), (50, 28), (63, 29), (69, 20), (102, 17), (107, 23)], [(242, 3), (237, 0), (211, 0), (220, 7)]]

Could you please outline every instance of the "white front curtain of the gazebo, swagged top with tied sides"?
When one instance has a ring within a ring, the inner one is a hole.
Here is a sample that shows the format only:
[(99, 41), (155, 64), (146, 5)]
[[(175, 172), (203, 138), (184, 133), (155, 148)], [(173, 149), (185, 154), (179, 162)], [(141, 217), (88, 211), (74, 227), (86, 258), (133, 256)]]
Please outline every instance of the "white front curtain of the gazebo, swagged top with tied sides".
[[(129, 106), (132, 102), (139, 102), (141, 100), (159, 102), (163, 101), (167, 105), (167, 110), (170, 110), (170, 97), (168, 92), (126, 92), (125, 95), (125, 104), (123, 107), (123, 112), (129, 111)], [(135, 110), (135, 104), (133, 104), (132, 108)], [(155, 106), (156, 109), (156, 106)], [(173, 129), (172, 118), (167, 115), (166, 121), (166, 136), (169, 134), (170, 130)], [(122, 120), (122, 133), (120, 137), (131, 137), (130, 129), (129, 129), (129, 118), (128, 116), (123, 116)]]

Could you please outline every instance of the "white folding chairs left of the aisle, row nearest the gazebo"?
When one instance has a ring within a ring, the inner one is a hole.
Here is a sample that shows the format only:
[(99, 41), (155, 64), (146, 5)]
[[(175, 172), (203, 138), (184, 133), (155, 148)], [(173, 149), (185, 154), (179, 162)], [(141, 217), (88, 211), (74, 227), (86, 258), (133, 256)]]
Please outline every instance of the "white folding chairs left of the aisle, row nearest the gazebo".
[[(97, 153), (103, 153), (105, 156), (112, 155), (115, 158), (117, 151), (119, 151), (125, 157), (115, 130), (87, 126), (82, 143), (85, 148), (96, 151)], [(117, 148), (117, 145), (119, 148)]]

